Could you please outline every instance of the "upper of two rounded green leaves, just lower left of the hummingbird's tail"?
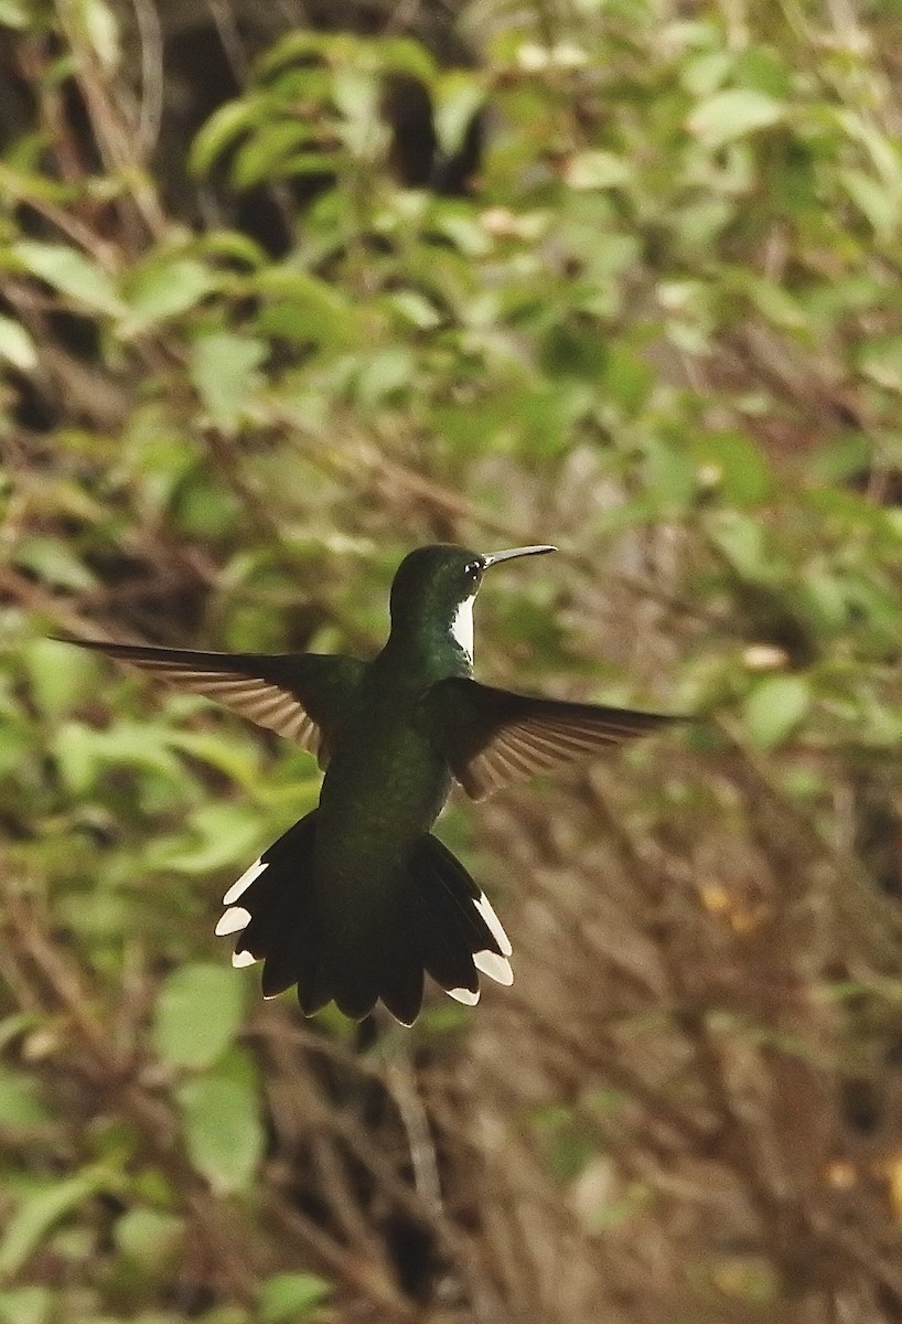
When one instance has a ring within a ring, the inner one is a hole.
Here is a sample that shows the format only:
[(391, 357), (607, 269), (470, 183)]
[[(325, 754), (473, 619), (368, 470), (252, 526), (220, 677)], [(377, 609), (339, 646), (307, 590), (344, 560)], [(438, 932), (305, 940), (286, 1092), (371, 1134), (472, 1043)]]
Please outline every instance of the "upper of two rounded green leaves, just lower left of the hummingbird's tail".
[(226, 965), (196, 961), (164, 980), (153, 1008), (153, 1051), (173, 1067), (212, 1066), (245, 1019), (246, 986)]

